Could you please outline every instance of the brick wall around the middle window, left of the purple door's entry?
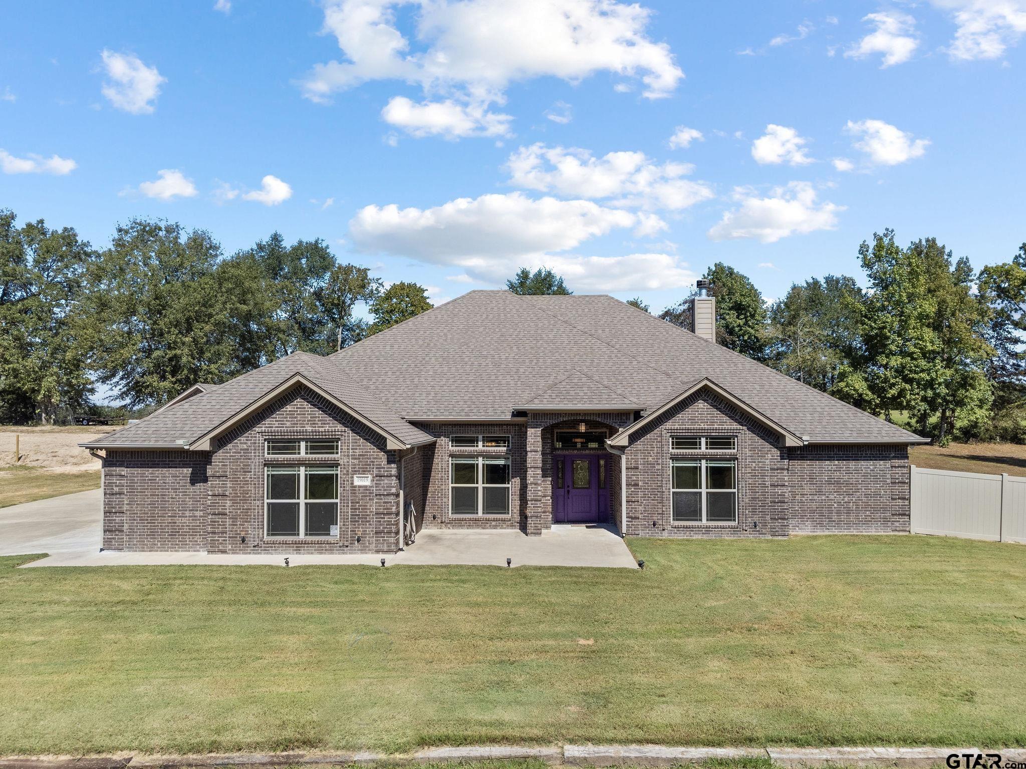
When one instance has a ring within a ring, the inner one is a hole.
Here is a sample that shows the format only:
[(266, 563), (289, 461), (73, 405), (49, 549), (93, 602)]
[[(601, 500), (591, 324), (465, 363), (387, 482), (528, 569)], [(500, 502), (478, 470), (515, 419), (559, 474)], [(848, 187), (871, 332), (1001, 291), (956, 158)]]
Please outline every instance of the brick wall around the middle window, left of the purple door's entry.
[[(504, 423), (418, 423), (421, 430), (437, 436), (433, 446), (424, 447), (422, 463), (424, 482), (424, 528), (428, 529), (523, 529), (526, 525), (526, 429), (522, 422)], [(453, 435), (508, 435), (506, 449), (451, 448)], [(508, 516), (449, 515), (449, 457), (470, 456), (510, 457), (510, 514)]]

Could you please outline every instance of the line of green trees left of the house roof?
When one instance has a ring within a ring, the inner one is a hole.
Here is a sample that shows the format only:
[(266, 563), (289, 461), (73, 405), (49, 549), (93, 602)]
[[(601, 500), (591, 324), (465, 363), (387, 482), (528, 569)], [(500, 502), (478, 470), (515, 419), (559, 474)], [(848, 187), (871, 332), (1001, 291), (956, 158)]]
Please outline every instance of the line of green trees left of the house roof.
[[(354, 314), (366, 302), (370, 321)], [(306, 351), (325, 355), (429, 310), (324, 241), (280, 234), (233, 254), (181, 225), (134, 219), (95, 249), (75, 230), (0, 210), (0, 420), (94, 408), (94, 383), (130, 411)]]

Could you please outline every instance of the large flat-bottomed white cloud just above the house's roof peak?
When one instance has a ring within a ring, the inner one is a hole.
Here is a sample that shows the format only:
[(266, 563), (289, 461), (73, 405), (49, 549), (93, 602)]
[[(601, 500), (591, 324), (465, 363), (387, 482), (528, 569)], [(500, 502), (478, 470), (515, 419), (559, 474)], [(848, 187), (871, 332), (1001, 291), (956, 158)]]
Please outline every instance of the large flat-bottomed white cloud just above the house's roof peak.
[[(587, 200), (522, 193), (461, 198), (434, 208), (366, 206), (349, 222), (364, 252), (409, 256), (463, 271), (456, 280), (502, 283), (520, 267), (549, 267), (579, 290), (682, 287), (695, 276), (675, 256), (568, 254), (592, 238), (637, 228), (643, 214)], [(464, 277), (466, 276), (466, 277)]]

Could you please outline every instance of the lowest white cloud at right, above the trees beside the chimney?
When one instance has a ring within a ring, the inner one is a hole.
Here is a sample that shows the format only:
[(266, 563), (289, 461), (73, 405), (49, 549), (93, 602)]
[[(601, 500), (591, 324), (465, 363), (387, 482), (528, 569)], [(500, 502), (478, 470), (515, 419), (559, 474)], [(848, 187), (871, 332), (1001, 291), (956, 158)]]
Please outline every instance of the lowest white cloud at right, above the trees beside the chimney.
[(837, 227), (837, 212), (844, 206), (819, 202), (816, 190), (807, 181), (791, 181), (778, 187), (770, 197), (759, 197), (751, 188), (735, 188), (737, 208), (709, 230), (712, 240), (754, 238), (776, 243), (789, 235), (805, 235)]

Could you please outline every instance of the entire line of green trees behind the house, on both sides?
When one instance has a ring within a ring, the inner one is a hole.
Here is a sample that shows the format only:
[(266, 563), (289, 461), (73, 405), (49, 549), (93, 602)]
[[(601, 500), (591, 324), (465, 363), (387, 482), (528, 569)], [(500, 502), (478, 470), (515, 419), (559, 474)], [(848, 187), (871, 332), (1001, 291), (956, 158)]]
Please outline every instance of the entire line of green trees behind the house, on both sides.
[[(1026, 443), (1026, 243), (979, 272), (935, 238), (903, 247), (892, 230), (858, 256), (864, 286), (810, 278), (772, 302), (741, 272), (709, 267), (717, 341), (941, 442)], [(507, 287), (573, 293), (545, 268), (520, 269)], [(689, 327), (693, 295), (659, 317)], [(274, 233), (226, 254), (205, 231), (133, 219), (95, 249), (71, 228), (18, 227), (0, 210), (0, 420), (94, 410), (95, 382), (145, 412), (198, 381), (326, 355), (430, 308), (423, 286), (385, 286), (320, 239)]]

